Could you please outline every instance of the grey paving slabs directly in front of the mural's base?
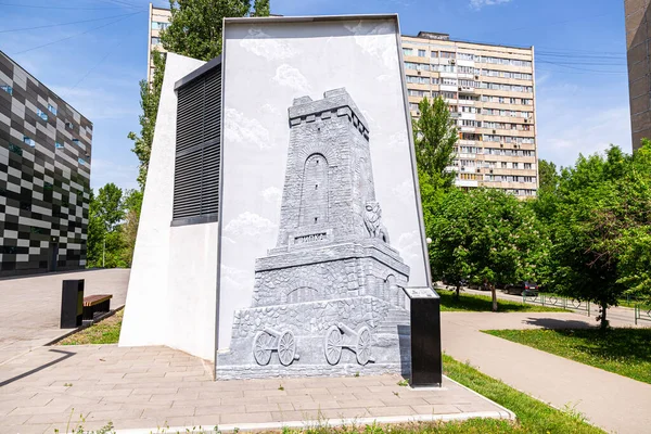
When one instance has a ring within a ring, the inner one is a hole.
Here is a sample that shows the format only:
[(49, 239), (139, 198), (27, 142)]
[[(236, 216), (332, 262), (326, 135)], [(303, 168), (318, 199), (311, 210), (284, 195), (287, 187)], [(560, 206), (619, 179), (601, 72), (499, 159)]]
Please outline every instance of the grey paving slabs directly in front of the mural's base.
[(166, 425), (279, 430), (324, 420), (332, 425), (342, 419), (370, 423), (513, 417), (447, 379), (443, 390), (411, 390), (399, 386), (400, 380), (214, 382), (209, 363), (167, 347), (51, 346), (0, 366), (0, 433), (65, 432), (71, 414), (78, 422), (80, 413), (89, 430), (113, 421), (118, 430), (148, 433)]

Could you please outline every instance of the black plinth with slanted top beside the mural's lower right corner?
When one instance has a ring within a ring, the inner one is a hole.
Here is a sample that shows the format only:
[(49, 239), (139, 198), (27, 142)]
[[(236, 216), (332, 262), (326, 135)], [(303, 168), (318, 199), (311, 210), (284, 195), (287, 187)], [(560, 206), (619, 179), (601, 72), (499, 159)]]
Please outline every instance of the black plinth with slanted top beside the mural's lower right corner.
[(435, 291), (407, 291), (411, 308), (411, 385), (441, 386), (441, 298)]

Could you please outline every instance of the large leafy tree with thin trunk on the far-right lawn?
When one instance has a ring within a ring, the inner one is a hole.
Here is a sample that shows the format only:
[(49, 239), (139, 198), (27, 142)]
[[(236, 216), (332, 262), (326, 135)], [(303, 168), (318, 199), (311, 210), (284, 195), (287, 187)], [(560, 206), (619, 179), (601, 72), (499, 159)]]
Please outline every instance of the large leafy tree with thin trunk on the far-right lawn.
[(565, 295), (609, 306), (625, 293), (644, 293), (651, 243), (650, 148), (627, 155), (611, 146), (604, 156), (579, 156), (563, 169), (553, 219), (554, 285)]

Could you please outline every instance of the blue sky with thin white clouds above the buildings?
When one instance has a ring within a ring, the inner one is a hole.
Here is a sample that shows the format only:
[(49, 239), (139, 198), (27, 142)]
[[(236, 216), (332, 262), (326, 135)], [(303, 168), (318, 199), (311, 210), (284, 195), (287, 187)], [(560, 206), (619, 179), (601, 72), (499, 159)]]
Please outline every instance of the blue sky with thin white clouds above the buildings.
[[(0, 0), (0, 50), (94, 124), (93, 188), (137, 187), (138, 161), (127, 133), (139, 131), (148, 5), (148, 0)], [(271, 0), (271, 11), (397, 12), (407, 35), (430, 30), (534, 46), (540, 157), (567, 166), (579, 153), (610, 143), (630, 152), (621, 0)], [(72, 24), (51, 26), (65, 23)]]

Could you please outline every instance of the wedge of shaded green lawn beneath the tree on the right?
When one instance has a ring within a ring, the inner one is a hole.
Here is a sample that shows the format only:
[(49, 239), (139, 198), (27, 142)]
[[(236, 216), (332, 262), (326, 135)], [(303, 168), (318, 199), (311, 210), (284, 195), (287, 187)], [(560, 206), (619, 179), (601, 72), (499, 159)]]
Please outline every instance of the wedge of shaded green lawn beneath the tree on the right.
[(487, 330), (485, 333), (651, 384), (651, 329)]

